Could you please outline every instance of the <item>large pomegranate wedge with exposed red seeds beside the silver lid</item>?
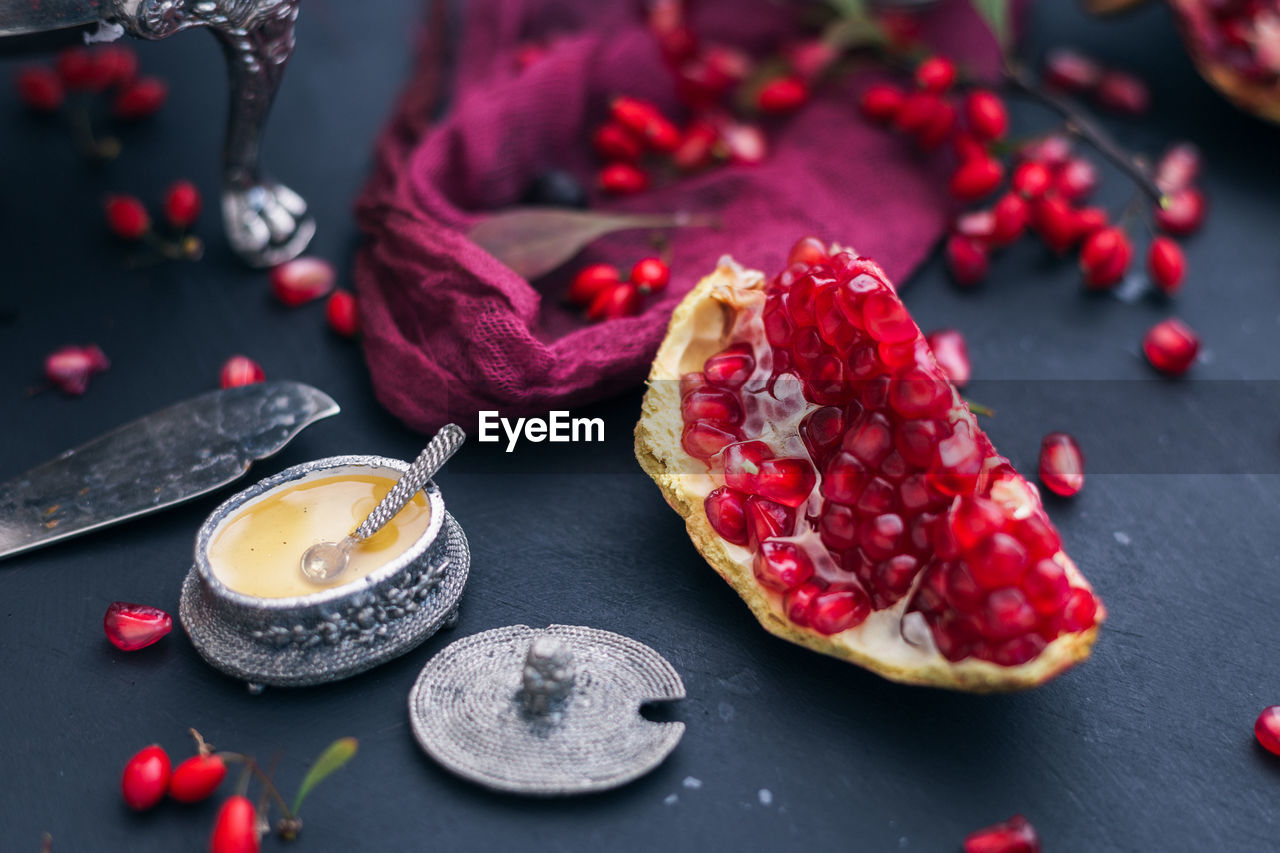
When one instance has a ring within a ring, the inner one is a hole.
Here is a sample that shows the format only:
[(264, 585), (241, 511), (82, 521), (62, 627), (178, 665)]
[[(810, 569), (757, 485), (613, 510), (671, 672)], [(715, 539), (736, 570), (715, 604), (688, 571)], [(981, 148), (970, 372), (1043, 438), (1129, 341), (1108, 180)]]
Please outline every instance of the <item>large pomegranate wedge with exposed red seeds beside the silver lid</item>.
[(938, 366), (883, 270), (730, 259), (676, 309), (636, 457), (769, 631), (974, 692), (1089, 654), (1101, 602)]

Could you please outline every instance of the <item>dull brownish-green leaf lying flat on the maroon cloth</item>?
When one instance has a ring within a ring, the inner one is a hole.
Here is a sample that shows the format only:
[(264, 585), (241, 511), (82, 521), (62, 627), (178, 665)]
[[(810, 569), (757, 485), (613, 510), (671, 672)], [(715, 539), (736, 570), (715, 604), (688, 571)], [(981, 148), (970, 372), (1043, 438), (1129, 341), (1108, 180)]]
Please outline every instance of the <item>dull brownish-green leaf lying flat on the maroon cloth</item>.
[(692, 214), (605, 214), (554, 207), (516, 207), (471, 229), (477, 246), (527, 279), (545, 275), (589, 243), (614, 231), (716, 225)]

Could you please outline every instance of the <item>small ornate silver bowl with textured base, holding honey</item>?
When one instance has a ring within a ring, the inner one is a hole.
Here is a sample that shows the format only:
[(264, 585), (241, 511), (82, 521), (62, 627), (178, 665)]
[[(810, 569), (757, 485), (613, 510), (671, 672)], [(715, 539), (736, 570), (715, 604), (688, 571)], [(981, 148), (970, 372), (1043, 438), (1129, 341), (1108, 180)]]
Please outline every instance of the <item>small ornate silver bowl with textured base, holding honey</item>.
[(316, 475), (398, 478), (408, 462), (381, 456), (332, 456), (269, 476), (224, 501), (196, 535), (196, 562), (182, 585), (178, 616), (196, 651), (250, 685), (303, 686), (356, 675), (419, 646), (457, 620), (471, 552), (444, 511), (434, 482), (422, 488), (426, 532), (376, 571), (292, 598), (260, 598), (224, 584), (209, 562), (223, 523), (257, 497)]

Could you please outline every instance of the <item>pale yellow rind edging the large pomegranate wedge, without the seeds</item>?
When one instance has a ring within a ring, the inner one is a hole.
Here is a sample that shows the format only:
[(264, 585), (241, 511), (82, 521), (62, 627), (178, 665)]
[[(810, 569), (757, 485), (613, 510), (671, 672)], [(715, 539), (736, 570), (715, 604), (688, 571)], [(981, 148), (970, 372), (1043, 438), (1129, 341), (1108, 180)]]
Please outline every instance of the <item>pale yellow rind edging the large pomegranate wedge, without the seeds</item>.
[[(635, 453), (640, 467), (685, 520), (689, 538), (712, 569), (746, 602), (771, 634), (850, 661), (891, 681), (972, 693), (1020, 690), (1044, 684), (1085, 660), (1106, 617), (1101, 601), (1092, 628), (1057, 637), (1037, 657), (1018, 666), (998, 666), (977, 658), (951, 662), (932, 647), (927, 652), (913, 648), (897, 630), (901, 606), (877, 611), (864, 625), (829, 637), (800, 628), (786, 617), (781, 596), (756, 581), (751, 570), (753, 552), (726, 542), (712, 529), (703, 502), (716, 484), (708, 474), (696, 470), (698, 460), (692, 460), (680, 442), (684, 429), (680, 377), (699, 370), (709, 356), (732, 342), (739, 309), (762, 301), (764, 284), (763, 273), (744, 269), (726, 256), (716, 272), (685, 296), (672, 314), (667, 336), (658, 348), (635, 429)], [(1055, 560), (1065, 570), (1071, 587), (1092, 592), (1070, 557), (1060, 551)], [(886, 616), (893, 613), (899, 613), (892, 616), (895, 624), (886, 625)]]

